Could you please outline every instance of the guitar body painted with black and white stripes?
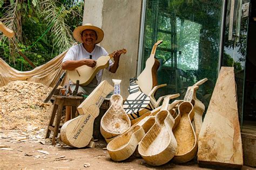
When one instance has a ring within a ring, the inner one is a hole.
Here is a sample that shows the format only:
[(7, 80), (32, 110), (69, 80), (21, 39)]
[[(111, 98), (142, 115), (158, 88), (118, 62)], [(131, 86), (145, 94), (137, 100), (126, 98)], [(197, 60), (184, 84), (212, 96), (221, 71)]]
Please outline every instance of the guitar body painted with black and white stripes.
[(154, 93), (160, 87), (166, 86), (166, 84), (159, 85), (154, 87), (150, 92), (150, 96), (147, 96), (142, 91), (140, 91), (139, 86), (136, 84), (136, 78), (130, 78), (130, 87), (129, 93), (130, 95), (124, 102), (123, 108), (125, 112), (129, 115), (131, 120), (139, 118), (144, 113), (153, 110), (156, 106), (159, 106), (163, 97), (156, 99), (152, 98)]

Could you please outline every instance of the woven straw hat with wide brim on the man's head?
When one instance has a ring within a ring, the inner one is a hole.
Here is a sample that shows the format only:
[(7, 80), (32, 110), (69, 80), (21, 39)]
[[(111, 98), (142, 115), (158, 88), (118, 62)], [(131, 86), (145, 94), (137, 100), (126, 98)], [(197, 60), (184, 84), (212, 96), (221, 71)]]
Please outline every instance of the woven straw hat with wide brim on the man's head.
[(84, 24), (82, 26), (78, 26), (74, 31), (73, 31), (73, 37), (79, 42), (83, 43), (82, 40), (82, 32), (84, 30), (94, 30), (97, 33), (97, 40), (96, 44), (100, 43), (104, 37), (104, 32), (102, 29), (98, 28), (97, 26), (92, 25), (91, 23)]

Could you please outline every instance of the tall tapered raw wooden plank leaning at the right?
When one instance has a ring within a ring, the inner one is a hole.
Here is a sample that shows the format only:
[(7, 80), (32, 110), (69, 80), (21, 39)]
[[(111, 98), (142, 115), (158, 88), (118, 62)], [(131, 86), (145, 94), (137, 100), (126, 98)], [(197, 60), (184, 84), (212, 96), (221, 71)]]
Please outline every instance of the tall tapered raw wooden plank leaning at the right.
[(221, 67), (198, 137), (198, 161), (200, 166), (242, 167), (233, 67)]

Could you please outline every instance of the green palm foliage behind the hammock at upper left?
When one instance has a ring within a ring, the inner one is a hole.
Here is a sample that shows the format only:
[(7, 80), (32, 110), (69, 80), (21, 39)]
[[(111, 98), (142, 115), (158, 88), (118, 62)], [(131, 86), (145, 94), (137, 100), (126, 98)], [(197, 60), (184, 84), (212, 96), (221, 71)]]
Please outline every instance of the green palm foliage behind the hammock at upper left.
[[(62, 30), (58, 30), (57, 25), (62, 24), (61, 29), (65, 28), (67, 29), (66, 32), (72, 32), (77, 25), (82, 24), (83, 2), (78, 3), (77, 1), (70, 1), (71, 4), (69, 5), (67, 1), (65, 2), (66, 6), (64, 6), (58, 1), (46, 1), (17, 1), (16, 9), (21, 13), (21, 17), (17, 18), (19, 22), (21, 22), (21, 40), (12, 39), (12, 41), (14, 41), (12, 42), (5, 36), (0, 35), (0, 57), (16, 70), (28, 71), (33, 69), (23, 57), (18, 55), (18, 49), (21, 50), (34, 65), (39, 66), (45, 64), (65, 50), (62, 46), (62, 39), (65, 38), (65, 35), (62, 35)], [(56, 3), (51, 4), (54, 6), (54, 9), (50, 9), (52, 6), (45, 6), (49, 5), (49, 2)], [(15, 1), (10, 1), (10, 3), (14, 4)], [(4, 6), (4, 1), (0, 0), (0, 6), (2, 6), (1, 4)], [(43, 6), (48, 8), (51, 12), (54, 11), (55, 16), (49, 16), (49, 13), (44, 13), (45, 8), (42, 8)], [(11, 7), (14, 8), (14, 6)], [(5, 18), (7, 18), (6, 11), (8, 11), (7, 8), (0, 8), (0, 17), (5, 16)], [(60, 21), (63, 23), (59, 23)], [(53, 24), (50, 25), (50, 23)], [(6, 26), (8, 24), (6, 24)], [(17, 35), (16, 29), (14, 31)], [(56, 35), (54, 31), (58, 31), (58, 35)], [(65, 40), (70, 43), (70, 47), (73, 42), (72, 35), (69, 39), (66, 38)], [(17, 48), (14, 46), (15, 42)]]

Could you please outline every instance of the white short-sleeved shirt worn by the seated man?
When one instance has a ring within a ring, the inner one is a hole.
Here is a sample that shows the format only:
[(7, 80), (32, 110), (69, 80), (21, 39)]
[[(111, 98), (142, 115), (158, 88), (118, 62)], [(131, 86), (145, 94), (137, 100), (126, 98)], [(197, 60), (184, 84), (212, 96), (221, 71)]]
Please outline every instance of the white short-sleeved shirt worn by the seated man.
[[(78, 44), (72, 46), (69, 51), (66, 53), (65, 57), (62, 60), (62, 63), (66, 62), (67, 60), (82, 60), (82, 59), (90, 59), (90, 55), (92, 56), (93, 60), (97, 60), (101, 56), (107, 56), (109, 53), (107, 51), (98, 45), (95, 45), (95, 48), (93, 49), (92, 52), (88, 52), (85, 50), (83, 44)], [(110, 67), (113, 65), (112, 60), (109, 60), (109, 67), (106, 69), (109, 70)], [(98, 84), (102, 81), (102, 74), (103, 74), (103, 69), (100, 70), (96, 74), (96, 79), (98, 81)]]

